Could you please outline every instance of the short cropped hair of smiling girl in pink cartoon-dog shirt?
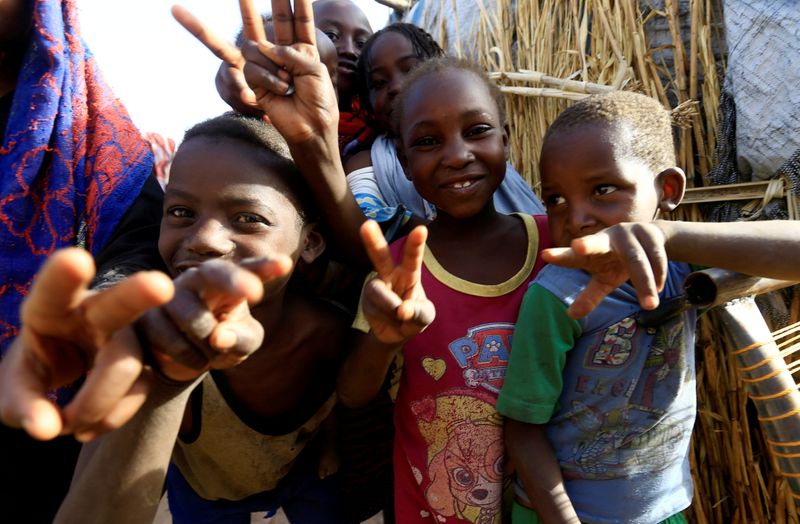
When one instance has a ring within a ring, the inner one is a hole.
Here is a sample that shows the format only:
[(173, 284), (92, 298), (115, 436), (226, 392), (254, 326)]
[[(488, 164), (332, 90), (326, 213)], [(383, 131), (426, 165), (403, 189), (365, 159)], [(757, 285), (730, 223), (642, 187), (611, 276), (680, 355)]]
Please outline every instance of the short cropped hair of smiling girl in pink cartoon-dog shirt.
[(411, 92), (411, 89), (420, 80), (430, 75), (453, 70), (472, 73), (483, 83), (483, 85), (486, 86), (486, 89), (489, 91), (489, 94), (497, 106), (497, 114), (500, 117), (499, 124), (501, 126), (506, 125), (506, 106), (503, 93), (500, 91), (500, 88), (497, 87), (497, 84), (492, 82), (491, 79), (486, 75), (486, 71), (479, 65), (470, 62), (469, 60), (456, 58), (454, 56), (441, 56), (428, 60), (427, 62), (423, 62), (417, 66), (416, 69), (411, 71), (406, 78), (406, 81), (403, 83), (403, 87), (400, 89), (400, 92), (395, 97), (393, 102), (394, 111), (392, 112), (392, 129), (394, 130), (394, 135), (397, 140), (400, 140), (400, 125), (403, 121), (403, 117), (405, 116), (406, 99), (408, 98), (408, 94)]

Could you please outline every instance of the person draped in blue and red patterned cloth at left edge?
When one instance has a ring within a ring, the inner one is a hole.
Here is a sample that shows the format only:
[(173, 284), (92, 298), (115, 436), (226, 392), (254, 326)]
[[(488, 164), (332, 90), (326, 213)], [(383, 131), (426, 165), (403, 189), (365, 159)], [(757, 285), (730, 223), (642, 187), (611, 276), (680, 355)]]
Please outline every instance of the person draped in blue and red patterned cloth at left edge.
[[(79, 6), (0, 6), (0, 360), (19, 335), (31, 279), (56, 249), (97, 257), (93, 287), (160, 267), (153, 158), (84, 41)], [(62, 404), (75, 392), (63, 386), (51, 395)], [(79, 451), (71, 438), (38, 442), (0, 425), (3, 520), (50, 522)], [(21, 505), (31, 492), (37, 503)]]

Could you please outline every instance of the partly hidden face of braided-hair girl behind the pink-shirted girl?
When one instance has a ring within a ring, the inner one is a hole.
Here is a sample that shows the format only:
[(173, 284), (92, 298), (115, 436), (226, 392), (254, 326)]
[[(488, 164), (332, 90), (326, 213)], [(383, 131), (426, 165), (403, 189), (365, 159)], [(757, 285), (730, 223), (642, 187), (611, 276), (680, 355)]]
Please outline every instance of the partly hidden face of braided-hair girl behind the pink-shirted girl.
[(369, 104), (373, 118), (383, 129), (391, 128), (392, 102), (419, 62), (411, 42), (395, 31), (381, 34), (372, 44), (366, 68)]

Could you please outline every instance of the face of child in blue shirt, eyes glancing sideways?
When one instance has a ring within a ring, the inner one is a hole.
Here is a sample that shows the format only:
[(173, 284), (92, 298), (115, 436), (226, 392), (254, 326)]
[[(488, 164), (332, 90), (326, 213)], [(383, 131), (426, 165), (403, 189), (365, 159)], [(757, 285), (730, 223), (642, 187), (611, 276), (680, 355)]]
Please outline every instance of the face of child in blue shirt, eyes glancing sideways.
[(664, 180), (641, 160), (618, 158), (613, 132), (606, 123), (578, 125), (543, 145), (542, 201), (557, 246), (621, 222), (650, 221), (659, 210)]

